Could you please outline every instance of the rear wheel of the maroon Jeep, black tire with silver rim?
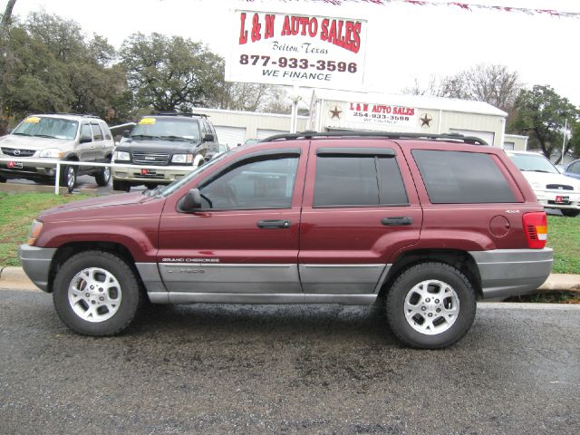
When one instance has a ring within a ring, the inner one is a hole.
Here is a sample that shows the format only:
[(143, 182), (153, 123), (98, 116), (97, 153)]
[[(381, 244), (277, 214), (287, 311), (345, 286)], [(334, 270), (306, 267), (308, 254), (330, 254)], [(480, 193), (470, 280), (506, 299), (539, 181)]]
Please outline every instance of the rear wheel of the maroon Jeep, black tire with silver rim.
[(475, 291), (465, 275), (453, 266), (429, 262), (411, 266), (397, 277), (387, 295), (386, 311), (391, 331), (402, 343), (440, 349), (468, 333), (476, 305)]

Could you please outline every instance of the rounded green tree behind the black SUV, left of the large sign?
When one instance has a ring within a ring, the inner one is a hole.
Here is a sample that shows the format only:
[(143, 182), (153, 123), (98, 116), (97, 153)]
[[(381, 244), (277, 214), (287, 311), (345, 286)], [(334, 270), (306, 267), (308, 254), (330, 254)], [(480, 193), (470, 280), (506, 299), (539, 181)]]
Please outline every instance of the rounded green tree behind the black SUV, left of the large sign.
[(190, 111), (216, 103), (224, 60), (180, 36), (132, 34), (121, 47), (121, 64), (138, 108)]

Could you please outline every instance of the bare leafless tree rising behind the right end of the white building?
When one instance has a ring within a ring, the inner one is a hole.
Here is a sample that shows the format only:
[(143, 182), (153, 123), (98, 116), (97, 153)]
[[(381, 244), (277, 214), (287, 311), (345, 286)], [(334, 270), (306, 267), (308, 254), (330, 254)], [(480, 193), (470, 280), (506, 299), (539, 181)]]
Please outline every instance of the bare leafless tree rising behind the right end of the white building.
[(507, 66), (480, 63), (469, 70), (446, 77), (440, 95), (463, 100), (488, 102), (509, 112), (522, 88), (517, 73)]

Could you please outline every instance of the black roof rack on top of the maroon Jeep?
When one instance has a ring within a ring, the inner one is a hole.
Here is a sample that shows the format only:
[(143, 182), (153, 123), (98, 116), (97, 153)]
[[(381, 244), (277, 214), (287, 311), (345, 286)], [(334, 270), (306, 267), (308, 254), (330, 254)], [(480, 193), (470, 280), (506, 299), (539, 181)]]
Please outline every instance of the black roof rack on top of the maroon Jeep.
[(262, 142), (271, 142), (273, 140), (295, 140), (295, 139), (312, 139), (312, 138), (342, 138), (342, 137), (362, 137), (362, 138), (387, 138), (387, 139), (419, 139), (419, 140), (455, 140), (458, 142), (469, 143), (471, 145), (488, 145), (485, 140), (475, 136), (464, 136), (459, 133), (406, 133), (391, 131), (303, 131), (301, 133), (285, 133), (270, 136)]

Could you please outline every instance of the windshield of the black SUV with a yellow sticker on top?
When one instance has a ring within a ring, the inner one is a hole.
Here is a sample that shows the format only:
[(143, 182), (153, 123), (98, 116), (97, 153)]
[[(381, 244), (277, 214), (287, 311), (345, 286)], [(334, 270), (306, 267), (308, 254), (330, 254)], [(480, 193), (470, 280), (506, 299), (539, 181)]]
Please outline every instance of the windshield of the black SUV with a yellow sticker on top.
[(199, 140), (199, 124), (196, 120), (171, 118), (142, 118), (131, 131), (131, 138)]

